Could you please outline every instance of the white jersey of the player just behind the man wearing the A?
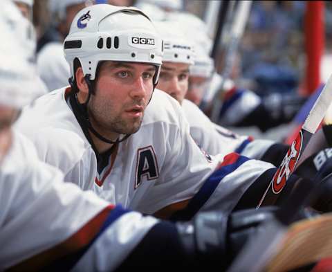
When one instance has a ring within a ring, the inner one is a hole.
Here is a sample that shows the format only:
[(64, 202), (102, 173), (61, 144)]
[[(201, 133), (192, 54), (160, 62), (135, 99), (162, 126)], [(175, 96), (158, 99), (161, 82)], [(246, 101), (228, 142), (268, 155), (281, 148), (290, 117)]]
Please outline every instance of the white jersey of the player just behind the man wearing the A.
[(183, 100), (182, 107), (190, 125), (192, 138), (208, 154), (225, 155), (237, 152), (243, 156), (261, 159), (268, 148), (274, 144), (272, 140), (254, 140), (250, 136), (239, 136), (212, 123), (210, 118), (190, 100)]

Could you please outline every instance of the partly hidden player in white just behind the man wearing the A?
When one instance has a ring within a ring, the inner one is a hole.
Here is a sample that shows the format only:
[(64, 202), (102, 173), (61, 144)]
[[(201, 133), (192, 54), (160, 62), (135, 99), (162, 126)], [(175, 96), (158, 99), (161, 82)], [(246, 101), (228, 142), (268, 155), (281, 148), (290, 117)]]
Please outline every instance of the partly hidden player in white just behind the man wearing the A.
[[(271, 140), (253, 140), (252, 137), (234, 134), (228, 129), (212, 123), (197, 105), (185, 99), (190, 73), (192, 71), (196, 74), (198, 72), (202, 74), (204, 71), (206, 73), (208, 66), (199, 67), (199, 64), (207, 56), (201, 50), (196, 51), (196, 44), (189, 42), (181, 32), (179, 24), (172, 21), (160, 21), (156, 23), (156, 26), (163, 35), (165, 44), (163, 65), (157, 88), (173, 96), (182, 105), (190, 124), (190, 134), (196, 143), (208, 154), (225, 155), (230, 152), (238, 152), (243, 156), (279, 165), (286, 154), (287, 145), (277, 144)], [(199, 60), (199, 64), (194, 66), (196, 59)], [(207, 62), (205, 61), (205, 63)]]

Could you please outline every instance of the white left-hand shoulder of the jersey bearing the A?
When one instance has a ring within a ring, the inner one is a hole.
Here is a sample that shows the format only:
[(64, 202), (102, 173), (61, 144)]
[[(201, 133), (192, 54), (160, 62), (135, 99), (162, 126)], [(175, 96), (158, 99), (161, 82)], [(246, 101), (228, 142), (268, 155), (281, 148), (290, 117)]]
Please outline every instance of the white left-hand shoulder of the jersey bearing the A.
[(53, 91), (25, 107), (15, 128), (33, 141), (42, 161), (66, 172), (91, 145), (63, 93), (64, 89)]

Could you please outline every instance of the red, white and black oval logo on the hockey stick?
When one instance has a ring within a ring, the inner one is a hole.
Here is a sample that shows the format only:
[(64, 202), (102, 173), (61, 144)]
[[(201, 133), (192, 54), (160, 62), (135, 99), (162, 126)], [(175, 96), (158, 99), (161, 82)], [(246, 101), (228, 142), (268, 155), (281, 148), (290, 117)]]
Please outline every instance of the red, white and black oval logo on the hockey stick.
[(286, 180), (293, 172), (302, 149), (302, 141), (303, 136), (302, 131), (300, 131), (297, 138), (293, 141), (291, 149), (288, 150), (282, 161), (282, 165), (280, 165), (275, 176), (273, 176), (272, 189), (275, 194), (279, 194), (279, 192), (282, 191), (282, 188), (284, 188), (284, 185), (286, 184)]

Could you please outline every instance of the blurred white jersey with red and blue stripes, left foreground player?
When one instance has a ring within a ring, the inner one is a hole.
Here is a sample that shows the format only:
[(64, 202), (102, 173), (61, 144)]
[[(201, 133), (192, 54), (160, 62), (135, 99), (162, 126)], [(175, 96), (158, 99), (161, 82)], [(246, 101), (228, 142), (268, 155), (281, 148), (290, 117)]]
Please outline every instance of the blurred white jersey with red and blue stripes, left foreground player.
[(37, 271), (86, 247), (75, 271), (112, 271), (158, 223), (64, 183), (16, 133), (0, 165), (0, 205), (0, 271)]

